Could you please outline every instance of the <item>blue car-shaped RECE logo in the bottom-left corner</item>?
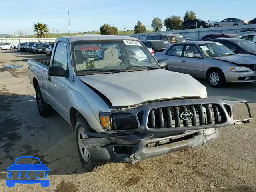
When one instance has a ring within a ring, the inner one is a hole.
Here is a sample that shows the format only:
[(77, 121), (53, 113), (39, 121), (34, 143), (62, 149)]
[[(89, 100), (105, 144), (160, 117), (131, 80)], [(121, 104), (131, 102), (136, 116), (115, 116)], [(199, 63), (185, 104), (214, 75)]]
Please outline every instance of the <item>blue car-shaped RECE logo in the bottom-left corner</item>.
[[(17, 164), (19, 159), (36, 159), (40, 164)], [(10, 167), (6, 169), (7, 171), (7, 187), (14, 187), (16, 183), (40, 183), (42, 187), (48, 187), (50, 185), (50, 180), (48, 179), (48, 171), (49, 169), (46, 167), (46, 164), (43, 164), (38, 157), (18, 157), (15, 162), (10, 164)], [(21, 179), (21, 171), (26, 172), (26, 179)], [(32, 174), (30, 171), (36, 171)], [(14, 172), (17, 172), (17, 177), (15, 178), (13, 175)], [(38, 176), (40, 172), (44, 172), (44, 179), (40, 179)], [(35, 179), (34, 179), (35, 178)]]

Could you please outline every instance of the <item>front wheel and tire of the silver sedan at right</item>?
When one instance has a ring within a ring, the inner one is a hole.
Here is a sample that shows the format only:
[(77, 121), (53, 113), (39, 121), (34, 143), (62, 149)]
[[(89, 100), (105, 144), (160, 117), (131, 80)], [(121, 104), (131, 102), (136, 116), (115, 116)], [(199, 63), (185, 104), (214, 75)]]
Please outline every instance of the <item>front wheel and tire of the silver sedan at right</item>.
[(214, 69), (207, 72), (207, 81), (210, 86), (220, 88), (226, 83), (225, 76), (221, 70)]

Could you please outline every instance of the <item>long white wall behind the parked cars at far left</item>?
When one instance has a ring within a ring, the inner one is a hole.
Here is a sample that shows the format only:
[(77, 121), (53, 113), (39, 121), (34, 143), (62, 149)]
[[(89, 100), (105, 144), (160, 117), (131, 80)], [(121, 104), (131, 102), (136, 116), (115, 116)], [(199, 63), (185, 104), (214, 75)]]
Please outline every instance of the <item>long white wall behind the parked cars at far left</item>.
[(0, 43), (12, 43), (17, 46), (19, 43), (35, 42), (39, 41), (46, 43), (48, 41), (55, 41), (57, 38), (0, 38)]

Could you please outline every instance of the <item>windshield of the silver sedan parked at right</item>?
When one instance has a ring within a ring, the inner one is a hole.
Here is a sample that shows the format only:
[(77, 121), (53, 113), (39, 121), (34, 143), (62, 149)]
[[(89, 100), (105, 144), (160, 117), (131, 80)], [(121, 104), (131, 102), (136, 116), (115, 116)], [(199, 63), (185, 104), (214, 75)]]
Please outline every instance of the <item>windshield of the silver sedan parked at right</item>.
[(234, 55), (235, 53), (221, 43), (204, 43), (198, 45), (206, 57)]

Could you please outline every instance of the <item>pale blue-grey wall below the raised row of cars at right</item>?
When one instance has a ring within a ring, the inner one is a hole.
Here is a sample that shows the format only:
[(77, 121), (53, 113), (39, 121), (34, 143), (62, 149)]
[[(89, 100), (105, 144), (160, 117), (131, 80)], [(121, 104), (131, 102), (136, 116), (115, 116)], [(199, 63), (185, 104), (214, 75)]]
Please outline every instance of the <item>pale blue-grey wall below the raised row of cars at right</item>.
[[(173, 34), (181, 34), (185, 38), (191, 38), (192, 40), (200, 40), (203, 36), (208, 34), (238, 34), (245, 35), (250, 32), (241, 32), (242, 30), (246, 30), (249, 28), (256, 28), (256, 25), (240, 25), (240, 26), (229, 26), (229, 27), (210, 27), (210, 28), (202, 28), (202, 29), (186, 29), (186, 30), (173, 30)], [(171, 33), (170, 31), (164, 31), (163, 33)], [(145, 40), (148, 34), (132, 34), (128, 36), (135, 37), (139, 40)]]

